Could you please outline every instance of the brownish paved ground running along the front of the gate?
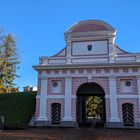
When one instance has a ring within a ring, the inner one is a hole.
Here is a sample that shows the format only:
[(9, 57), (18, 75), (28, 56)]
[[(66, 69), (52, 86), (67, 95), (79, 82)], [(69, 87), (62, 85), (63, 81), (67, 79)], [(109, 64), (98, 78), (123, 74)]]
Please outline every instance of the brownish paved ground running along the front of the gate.
[(5, 130), (0, 140), (140, 140), (140, 130), (45, 128)]

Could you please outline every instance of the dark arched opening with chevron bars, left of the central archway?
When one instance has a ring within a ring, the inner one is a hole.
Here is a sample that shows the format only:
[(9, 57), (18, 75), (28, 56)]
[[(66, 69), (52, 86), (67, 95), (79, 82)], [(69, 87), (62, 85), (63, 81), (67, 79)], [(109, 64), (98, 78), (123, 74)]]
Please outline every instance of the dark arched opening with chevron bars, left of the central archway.
[(51, 104), (51, 111), (52, 111), (52, 124), (60, 124), (61, 104), (60, 103), (52, 103)]

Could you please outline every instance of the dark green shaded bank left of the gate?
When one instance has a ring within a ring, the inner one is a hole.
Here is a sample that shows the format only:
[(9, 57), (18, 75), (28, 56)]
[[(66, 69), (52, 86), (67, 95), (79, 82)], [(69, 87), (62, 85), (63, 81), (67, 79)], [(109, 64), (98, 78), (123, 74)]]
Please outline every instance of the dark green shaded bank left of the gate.
[(0, 116), (6, 127), (26, 127), (35, 112), (37, 92), (0, 94)]

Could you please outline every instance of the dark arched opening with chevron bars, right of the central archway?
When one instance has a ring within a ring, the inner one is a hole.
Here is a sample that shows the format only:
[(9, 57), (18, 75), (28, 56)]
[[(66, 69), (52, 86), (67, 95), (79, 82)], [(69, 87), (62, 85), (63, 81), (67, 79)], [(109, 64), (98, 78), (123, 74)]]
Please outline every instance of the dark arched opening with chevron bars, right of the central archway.
[(133, 104), (124, 103), (122, 105), (122, 114), (124, 126), (133, 126), (134, 125)]

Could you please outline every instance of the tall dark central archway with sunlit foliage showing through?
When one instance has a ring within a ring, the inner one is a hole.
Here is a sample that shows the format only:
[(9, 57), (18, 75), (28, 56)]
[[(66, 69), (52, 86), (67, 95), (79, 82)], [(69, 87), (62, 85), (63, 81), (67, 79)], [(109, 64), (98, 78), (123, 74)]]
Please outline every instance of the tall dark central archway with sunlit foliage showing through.
[(96, 83), (85, 83), (77, 90), (77, 123), (80, 127), (103, 127), (106, 122), (105, 92)]

